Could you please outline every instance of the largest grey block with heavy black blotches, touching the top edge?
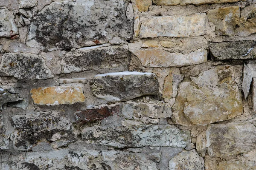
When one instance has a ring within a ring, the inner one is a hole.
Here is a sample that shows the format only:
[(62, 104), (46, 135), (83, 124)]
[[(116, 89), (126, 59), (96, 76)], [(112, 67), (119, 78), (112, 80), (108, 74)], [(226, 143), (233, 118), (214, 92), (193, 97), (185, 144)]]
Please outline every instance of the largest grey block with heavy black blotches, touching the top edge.
[(104, 44), (113, 37), (129, 40), (133, 20), (125, 0), (53, 2), (31, 21), (27, 45), (45, 51)]

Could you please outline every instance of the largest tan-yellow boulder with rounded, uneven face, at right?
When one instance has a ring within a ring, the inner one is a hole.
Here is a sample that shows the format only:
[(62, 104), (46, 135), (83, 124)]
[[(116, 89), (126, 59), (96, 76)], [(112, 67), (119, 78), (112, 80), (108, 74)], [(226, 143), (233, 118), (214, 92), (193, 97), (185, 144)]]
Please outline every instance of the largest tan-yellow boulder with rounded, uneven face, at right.
[(241, 115), (241, 92), (232, 75), (233, 66), (221, 65), (184, 79), (172, 108), (173, 122), (207, 125)]

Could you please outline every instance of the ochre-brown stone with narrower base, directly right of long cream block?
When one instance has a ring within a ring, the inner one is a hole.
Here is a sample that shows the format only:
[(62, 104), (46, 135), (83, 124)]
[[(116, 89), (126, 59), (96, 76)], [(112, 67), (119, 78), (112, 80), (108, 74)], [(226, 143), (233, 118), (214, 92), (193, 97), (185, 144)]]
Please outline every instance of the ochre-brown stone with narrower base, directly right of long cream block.
[(207, 17), (215, 25), (215, 34), (234, 35), (240, 25), (239, 6), (216, 8), (207, 11)]

